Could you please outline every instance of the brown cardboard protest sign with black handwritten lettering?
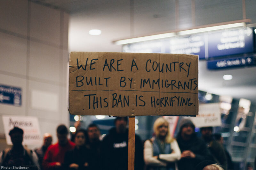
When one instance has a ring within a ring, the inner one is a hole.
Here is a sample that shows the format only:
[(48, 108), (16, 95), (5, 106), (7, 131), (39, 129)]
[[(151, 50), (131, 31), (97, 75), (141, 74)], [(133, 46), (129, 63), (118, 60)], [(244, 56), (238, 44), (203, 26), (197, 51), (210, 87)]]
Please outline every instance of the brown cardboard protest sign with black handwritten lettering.
[(70, 52), (72, 115), (197, 115), (198, 56)]

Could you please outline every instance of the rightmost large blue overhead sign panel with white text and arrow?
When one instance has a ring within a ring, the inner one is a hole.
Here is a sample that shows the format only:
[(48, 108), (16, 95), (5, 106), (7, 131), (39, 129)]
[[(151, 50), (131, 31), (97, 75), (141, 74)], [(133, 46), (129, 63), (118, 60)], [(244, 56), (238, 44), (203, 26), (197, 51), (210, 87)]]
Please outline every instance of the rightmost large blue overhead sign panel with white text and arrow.
[(252, 28), (228, 30), (224, 32), (208, 34), (209, 58), (252, 52)]

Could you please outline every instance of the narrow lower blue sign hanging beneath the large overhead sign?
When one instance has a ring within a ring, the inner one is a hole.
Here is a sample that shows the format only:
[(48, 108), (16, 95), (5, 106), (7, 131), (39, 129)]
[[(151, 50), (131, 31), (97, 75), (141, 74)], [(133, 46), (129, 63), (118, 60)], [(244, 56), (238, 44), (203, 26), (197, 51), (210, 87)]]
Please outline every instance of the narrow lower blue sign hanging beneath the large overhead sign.
[(256, 57), (237, 57), (223, 60), (208, 61), (207, 68), (209, 70), (226, 69), (232, 67), (256, 66)]

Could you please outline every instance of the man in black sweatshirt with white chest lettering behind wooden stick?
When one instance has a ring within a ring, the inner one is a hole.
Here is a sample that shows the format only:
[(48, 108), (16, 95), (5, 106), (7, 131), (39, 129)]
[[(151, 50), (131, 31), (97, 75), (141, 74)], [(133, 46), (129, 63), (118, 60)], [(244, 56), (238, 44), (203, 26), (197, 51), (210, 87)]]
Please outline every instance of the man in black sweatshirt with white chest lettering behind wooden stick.
[[(101, 159), (104, 170), (127, 170), (128, 168), (128, 117), (116, 117), (115, 127), (103, 138)], [(143, 146), (138, 135), (135, 135), (134, 169), (144, 167)]]

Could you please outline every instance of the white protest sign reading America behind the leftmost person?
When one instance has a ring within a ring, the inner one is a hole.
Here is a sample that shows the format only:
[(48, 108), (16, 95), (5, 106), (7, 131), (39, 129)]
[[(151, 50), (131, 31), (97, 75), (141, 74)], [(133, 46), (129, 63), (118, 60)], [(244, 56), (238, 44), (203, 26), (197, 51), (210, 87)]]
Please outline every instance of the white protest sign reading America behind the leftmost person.
[(9, 132), (14, 127), (18, 127), (24, 131), (23, 142), (24, 145), (39, 145), (42, 144), (41, 133), (37, 117), (31, 116), (13, 116), (3, 115), (4, 133), (6, 143), (12, 145)]

